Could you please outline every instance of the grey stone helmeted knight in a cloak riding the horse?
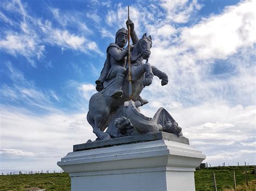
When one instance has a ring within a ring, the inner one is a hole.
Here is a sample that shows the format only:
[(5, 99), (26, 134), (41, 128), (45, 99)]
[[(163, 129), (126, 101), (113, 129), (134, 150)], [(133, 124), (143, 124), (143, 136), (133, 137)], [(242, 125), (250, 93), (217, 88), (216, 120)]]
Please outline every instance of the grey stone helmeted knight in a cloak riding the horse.
[[(126, 25), (130, 25), (132, 43), (136, 44), (139, 39), (136, 32), (134, 31), (134, 24), (132, 20), (127, 20)], [(112, 43), (107, 47), (107, 58), (104, 63), (104, 67), (102, 69), (102, 72), (100, 73), (99, 79), (95, 82), (97, 91), (103, 90), (104, 81), (110, 80), (115, 77), (112, 96), (122, 97), (122, 86), (126, 75), (126, 56), (128, 54), (128, 49), (124, 49), (124, 47), (127, 43), (127, 40), (127, 30), (125, 28), (119, 29), (116, 33), (115, 43)], [(133, 46), (131, 45), (131, 49), (132, 48)]]

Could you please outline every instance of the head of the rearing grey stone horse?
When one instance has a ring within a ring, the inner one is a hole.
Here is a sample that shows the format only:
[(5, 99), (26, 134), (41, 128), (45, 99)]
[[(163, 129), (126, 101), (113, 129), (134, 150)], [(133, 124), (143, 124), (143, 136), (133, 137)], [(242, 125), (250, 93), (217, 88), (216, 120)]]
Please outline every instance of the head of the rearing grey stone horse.
[(147, 60), (150, 57), (150, 48), (152, 47), (151, 36), (147, 37), (147, 33), (143, 34), (142, 38), (138, 41), (138, 51), (142, 53), (142, 58)]

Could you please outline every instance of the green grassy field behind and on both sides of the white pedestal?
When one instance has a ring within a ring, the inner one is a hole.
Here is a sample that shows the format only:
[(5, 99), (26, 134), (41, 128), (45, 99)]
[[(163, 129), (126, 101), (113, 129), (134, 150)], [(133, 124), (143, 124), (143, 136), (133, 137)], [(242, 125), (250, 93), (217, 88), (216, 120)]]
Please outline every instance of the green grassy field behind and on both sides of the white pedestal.
[[(256, 177), (251, 174), (255, 166), (212, 167), (200, 169), (195, 173), (196, 190), (213, 190), (212, 174), (215, 173), (218, 190), (233, 189), (233, 171), (235, 171), (237, 190), (256, 190)], [(70, 178), (66, 173), (0, 175), (0, 190), (25, 190), (25, 188), (45, 188), (46, 190), (70, 190)], [(28, 189), (27, 189), (28, 190)]]

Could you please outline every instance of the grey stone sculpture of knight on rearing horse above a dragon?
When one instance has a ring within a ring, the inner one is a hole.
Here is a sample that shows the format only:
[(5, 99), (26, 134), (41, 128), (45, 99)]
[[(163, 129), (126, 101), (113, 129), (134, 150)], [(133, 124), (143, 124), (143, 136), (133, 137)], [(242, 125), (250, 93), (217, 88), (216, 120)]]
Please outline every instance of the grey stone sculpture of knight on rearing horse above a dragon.
[[(96, 140), (159, 131), (182, 136), (178, 123), (164, 108), (160, 108), (153, 118), (140, 113), (139, 107), (148, 103), (140, 96), (143, 88), (150, 86), (153, 76), (158, 76), (161, 85), (165, 86), (168, 83), (168, 76), (148, 63), (152, 46), (151, 36), (145, 33), (141, 39), (138, 39), (132, 20), (127, 20), (126, 25), (130, 28), (133, 43), (129, 46), (130, 63), (126, 59), (129, 49), (124, 48), (129, 32), (122, 28), (116, 33), (115, 43), (107, 47), (104, 68), (96, 81), (98, 93), (92, 95), (89, 102), (87, 121), (97, 136)], [(146, 62), (144, 63), (143, 60)], [(131, 87), (129, 87), (129, 73)]]

